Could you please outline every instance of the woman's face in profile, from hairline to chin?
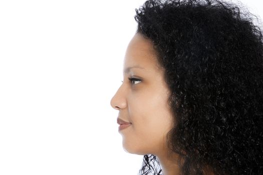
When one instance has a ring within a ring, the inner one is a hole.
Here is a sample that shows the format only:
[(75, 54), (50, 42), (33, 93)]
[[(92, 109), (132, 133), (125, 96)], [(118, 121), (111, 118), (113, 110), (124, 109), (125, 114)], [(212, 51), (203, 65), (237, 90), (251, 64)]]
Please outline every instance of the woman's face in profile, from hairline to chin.
[(150, 40), (136, 33), (126, 50), (123, 83), (111, 105), (119, 110), (119, 132), (130, 153), (158, 155), (166, 145), (173, 119), (164, 70)]

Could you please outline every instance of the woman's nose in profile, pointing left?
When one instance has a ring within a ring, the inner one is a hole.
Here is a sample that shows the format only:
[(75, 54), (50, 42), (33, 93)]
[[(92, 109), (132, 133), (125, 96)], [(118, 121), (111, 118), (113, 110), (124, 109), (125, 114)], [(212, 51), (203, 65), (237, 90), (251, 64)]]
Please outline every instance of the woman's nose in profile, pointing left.
[(117, 90), (115, 95), (112, 97), (111, 106), (117, 110), (124, 109), (125, 107), (127, 107), (127, 99), (126, 99), (124, 88), (122, 88), (122, 85)]

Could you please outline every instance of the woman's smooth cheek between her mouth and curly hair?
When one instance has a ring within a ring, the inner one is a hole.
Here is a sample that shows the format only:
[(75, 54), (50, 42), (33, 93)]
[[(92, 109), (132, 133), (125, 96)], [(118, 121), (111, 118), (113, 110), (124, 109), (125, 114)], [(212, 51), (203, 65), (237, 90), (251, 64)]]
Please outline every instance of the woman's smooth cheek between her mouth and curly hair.
[[(155, 94), (155, 95), (153, 95)], [(129, 116), (134, 123), (134, 129), (147, 132), (147, 130), (167, 128), (171, 125), (172, 115), (168, 105), (168, 93), (166, 91), (148, 91), (138, 97), (133, 96), (129, 102)]]

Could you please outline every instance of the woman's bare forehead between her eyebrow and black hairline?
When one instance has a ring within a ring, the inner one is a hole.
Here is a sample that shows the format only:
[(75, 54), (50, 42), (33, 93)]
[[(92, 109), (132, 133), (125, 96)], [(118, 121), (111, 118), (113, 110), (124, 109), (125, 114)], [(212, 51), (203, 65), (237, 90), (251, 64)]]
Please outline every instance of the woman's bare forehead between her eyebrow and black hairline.
[(124, 58), (124, 70), (129, 67), (150, 68), (158, 66), (156, 51), (151, 40), (136, 33), (131, 39)]

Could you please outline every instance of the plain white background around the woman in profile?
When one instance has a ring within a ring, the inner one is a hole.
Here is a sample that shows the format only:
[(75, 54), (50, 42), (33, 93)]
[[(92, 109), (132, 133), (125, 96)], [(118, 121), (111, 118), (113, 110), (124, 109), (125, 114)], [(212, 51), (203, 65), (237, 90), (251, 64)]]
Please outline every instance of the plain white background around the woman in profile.
[(110, 99), (143, 1), (0, 1), (0, 174), (137, 174)]

